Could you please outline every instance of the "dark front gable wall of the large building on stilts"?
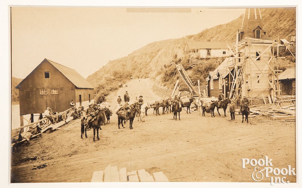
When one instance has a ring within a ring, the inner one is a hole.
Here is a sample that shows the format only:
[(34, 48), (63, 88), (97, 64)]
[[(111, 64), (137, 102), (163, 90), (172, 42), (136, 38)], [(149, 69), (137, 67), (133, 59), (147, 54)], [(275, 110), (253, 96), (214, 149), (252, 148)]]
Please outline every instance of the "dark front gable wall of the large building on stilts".
[[(50, 78), (45, 78), (44, 72), (50, 72)], [(43, 113), (46, 107), (52, 108), (53, 112), (62, 112), (75, 98), (74, 84), (47, 61), (24, 79), (18, 89), (20, 115)], [(40, 95), (40, 89), (47, 89), (47, 95)], [(50, 94), (51, 89), (58, 89), (59, 94)]]

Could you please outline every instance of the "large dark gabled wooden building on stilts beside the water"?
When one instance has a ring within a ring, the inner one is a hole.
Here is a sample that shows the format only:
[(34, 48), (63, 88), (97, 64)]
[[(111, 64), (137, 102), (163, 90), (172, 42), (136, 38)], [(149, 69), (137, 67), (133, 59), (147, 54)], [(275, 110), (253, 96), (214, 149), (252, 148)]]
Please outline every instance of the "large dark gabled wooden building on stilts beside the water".
[(44, 59), (20, 84), (20, 115), (43, 113), (47, 107), (53, 112), (70, 108), (73, 100), (86, 107), (93, 102), (93, 86), (74, 69)]

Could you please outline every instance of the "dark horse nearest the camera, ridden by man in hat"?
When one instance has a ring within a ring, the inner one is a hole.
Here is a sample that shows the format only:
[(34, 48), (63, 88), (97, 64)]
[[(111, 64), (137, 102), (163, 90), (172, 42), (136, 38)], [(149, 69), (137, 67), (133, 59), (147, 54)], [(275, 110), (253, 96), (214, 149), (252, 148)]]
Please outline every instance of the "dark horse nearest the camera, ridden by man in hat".
[[(97, 131), (97, 139), (99, 140), (100, 138), (98, 137), (98, 129), (101, 129), (101, 122), (104, 121), (103, 117), (102, 117), (102, 113), (98, 113), (95, 115), (95, 117), (93, 117), (93, 119), (95, 118), (95, 120), (91, 121), (90, 127), (93, 128), (93, 141), (95, 141), (95, 129)], [(83, 133), (84, 133), (84, 120), (85, 120), (85, 116), (82, 117), (81, 119), (81, 139), (83, 138)], [(85, 125), (85, 137), (87, 138), (87, 123)]]

